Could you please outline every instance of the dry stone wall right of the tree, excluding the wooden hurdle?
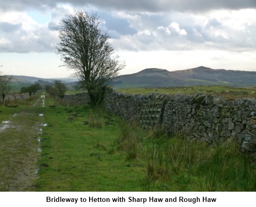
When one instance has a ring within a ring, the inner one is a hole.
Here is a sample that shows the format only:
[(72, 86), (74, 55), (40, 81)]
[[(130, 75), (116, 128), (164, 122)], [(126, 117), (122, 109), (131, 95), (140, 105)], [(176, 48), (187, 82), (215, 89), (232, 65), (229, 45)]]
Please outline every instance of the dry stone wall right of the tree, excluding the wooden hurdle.
[(243, 151), (256, 152), (255, 99), (224, 100), (200, 93), (127, 95), (109, 88), (105, 107), (126, 119), (139, 119), (143, 102), (154, 99), (166, 100), (162, 123), (170, 133), (178, 131), (210, 144), (236, 139)]

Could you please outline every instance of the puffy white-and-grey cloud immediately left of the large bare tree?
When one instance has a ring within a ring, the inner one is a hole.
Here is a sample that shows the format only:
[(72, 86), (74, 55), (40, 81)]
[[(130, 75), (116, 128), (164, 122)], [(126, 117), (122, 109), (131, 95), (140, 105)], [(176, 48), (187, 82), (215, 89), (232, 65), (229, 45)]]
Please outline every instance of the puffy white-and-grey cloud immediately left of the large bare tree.
[[(8, 12), (1, 14), (0, 51), (30, 53), (55, 50), (59, 41), (56, 31), (49, 31), (47, 25), (37, 24), (27, 13)], [(9, 21), (9, 22), (7, 22)]]

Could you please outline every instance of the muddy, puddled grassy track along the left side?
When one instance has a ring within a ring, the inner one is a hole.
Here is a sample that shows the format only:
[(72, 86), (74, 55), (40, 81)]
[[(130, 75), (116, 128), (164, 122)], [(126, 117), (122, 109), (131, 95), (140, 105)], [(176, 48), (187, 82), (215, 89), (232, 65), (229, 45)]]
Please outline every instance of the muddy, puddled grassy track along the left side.
[(41, 96), (33, 106), (17, 107), (0, 123), (0, 191), (35, 189), (44, 101)]

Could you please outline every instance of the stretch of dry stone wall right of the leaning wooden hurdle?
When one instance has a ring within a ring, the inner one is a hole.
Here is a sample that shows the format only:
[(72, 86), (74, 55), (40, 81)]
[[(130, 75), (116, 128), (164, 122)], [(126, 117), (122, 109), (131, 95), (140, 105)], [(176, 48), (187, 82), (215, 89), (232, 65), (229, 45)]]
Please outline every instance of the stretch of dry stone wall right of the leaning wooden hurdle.
[(256, 152), (256, 100), (224, 100), (217, 96), (171, 96), (163, 123), (191, 139), (208, 143), (234, 138), (244, 151)]

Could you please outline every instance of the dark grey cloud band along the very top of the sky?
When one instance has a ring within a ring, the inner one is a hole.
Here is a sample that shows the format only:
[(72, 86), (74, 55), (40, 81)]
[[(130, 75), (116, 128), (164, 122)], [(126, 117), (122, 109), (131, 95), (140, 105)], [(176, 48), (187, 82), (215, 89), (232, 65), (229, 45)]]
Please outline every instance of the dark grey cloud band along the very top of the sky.
[[(162, 12), (162, 11), (208, 11), (214, 9), (245, 9), (256, 8), (255, 0), (23, 0), (23, 1), (1, 1), (0, 8), (3, 11), (7, 10), (28, 10), (35, 8), (45, 10), (47, 8), (55, 8), (58, 3), (67, 3), (75, 7), (83, 7), (93, 5), (103, 9), (118, 9), (126, 11), (149, 11), (149, 12)], [(1, 9), (0, 9), (1, 10)]]

